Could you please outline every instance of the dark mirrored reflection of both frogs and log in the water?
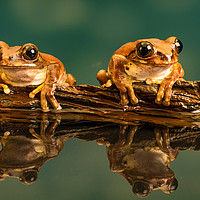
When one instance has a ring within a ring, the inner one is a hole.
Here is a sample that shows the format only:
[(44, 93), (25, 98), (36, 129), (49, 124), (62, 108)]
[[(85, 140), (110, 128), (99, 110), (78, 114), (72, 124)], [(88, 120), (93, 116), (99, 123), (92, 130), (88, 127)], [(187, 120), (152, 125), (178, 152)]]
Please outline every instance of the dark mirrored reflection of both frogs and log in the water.
[(72, 113), (65, 117), (28, 113), (18, 115), (19, 121), (7, 112), (5, 115), (2, 119), (6, 118), (6, 123), (0, 121), (2, 181), (14, 177), (26, 185), (34, 183), (43, 164), (56, 157), (69, 138), (78, 138), (105, 145), (110, 170), (125, 178), (138, 197), (154, 190), (170, 194), (178, 187), (170, 168), (178, 149), (199, 148), (198, 130), (193, 129), (190, 135), (187, 128), (123, 125)]

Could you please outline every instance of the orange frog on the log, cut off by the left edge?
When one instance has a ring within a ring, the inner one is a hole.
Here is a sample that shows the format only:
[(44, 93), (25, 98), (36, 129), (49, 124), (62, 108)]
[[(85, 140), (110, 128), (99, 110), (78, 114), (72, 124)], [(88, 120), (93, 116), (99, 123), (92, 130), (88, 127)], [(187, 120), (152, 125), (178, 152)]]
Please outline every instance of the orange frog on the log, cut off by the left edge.
[(49, 110), (47, 100), (54, 109), (59, 110), (61, 106), (54, 96), (56, 87), (75, 84), (75, 78), (71, 74), (66, 74), (60, 60), (40, 53), (34, 44), (9, 47), (5, 42), (0, 41), (0, 86), (5, 93), (10, 93), (9, 85), (37, 86), (29, 93), (29, 97), (34, 98), (40, 92), (43, 111)]

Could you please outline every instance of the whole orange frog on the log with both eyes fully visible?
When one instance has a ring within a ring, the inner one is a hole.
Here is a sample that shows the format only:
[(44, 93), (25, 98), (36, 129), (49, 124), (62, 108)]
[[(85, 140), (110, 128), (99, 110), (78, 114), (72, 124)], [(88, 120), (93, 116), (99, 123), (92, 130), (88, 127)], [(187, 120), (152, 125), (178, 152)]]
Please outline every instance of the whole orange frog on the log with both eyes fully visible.
[(132, 83), (146, 81), (147, 84), (160, 84), (155, 102), (168, 106), (173, 84), (184, 76), (178, 63), (182, 49), (183, 45), (176, 37), (129, 42), (114, 53), (108, 71), (100, 70), (97, 79), (105, 87), (112, 83), (116, 85), (122, 105), (127, 105), (129, 99), (132, 104), (138, 103)]

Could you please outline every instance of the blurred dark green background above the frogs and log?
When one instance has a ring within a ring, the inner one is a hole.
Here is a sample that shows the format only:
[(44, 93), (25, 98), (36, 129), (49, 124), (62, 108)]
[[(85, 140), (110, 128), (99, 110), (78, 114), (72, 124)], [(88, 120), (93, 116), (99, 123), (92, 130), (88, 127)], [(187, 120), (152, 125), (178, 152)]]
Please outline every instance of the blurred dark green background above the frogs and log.
[(141, 38), (178, 37), (187, 80), (199, 79), (198, 0), (8, 0), (1, 2), (0, 39), (32, 42), (58, 57), (78, 84), (98, 84), (113, 52)]

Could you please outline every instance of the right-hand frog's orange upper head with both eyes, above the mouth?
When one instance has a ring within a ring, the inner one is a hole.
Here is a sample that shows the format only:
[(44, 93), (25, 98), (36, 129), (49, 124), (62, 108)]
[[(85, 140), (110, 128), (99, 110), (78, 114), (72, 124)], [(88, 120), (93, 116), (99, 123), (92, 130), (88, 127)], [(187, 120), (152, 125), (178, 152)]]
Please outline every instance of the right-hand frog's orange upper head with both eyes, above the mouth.
[(121, 54), (135, 63), (164, 66), (176, 63), (182, 49), (183, 44), (176, 37), (142, 39), (123, 45), (115, 54)]

